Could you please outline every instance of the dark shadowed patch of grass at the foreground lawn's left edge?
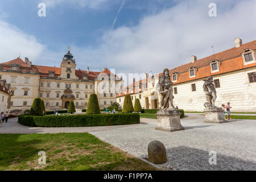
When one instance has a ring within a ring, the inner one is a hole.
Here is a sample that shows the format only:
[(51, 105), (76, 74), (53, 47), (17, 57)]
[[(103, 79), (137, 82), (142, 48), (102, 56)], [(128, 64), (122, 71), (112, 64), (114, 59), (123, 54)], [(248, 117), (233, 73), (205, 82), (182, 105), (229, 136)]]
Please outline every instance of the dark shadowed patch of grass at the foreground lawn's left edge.
[(23, 169), (27, 162), (35, 162), (33, 158), (42, 150), (41, 148), (35, 148), (35, 145), (42, 142), (42, 140), (27, 139), (26, 137), (28, 135), (0, 134), (0, 171)]

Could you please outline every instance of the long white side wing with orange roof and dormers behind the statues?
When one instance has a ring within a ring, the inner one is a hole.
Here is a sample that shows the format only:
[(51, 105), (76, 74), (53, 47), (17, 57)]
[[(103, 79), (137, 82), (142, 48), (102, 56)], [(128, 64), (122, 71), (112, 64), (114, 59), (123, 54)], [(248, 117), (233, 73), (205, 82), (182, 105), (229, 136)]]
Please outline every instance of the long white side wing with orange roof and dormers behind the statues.
[[(212, 76), (217, 91), (216, 105), (230, 102), (232, 111), (256, 111), (256, 40), (242, 44), (234, 40), (235, 47), (170, 69), (174, 89), (174, 106), (185, 111), (203, 111), (206, 102), (203, 79)], [(162, 73), (159, 74), (161, 76)], [(117, 96), (123, 106), (126, 94), (135, 102), (139, 98), (144, 109), (158, 109), (159, 76), (146, 75), (146, 79), (133, 81)]]

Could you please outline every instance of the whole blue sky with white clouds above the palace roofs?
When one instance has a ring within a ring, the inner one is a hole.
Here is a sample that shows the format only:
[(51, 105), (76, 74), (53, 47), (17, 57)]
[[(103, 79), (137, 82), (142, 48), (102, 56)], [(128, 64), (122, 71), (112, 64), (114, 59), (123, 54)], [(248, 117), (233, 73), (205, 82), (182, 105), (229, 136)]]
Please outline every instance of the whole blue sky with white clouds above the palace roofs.
[[(232, 48), (236, 37), (255, 40), (253, 0), (0, 2), (0, 62), (20, 53), (32, 64), (59, 67), (71, 46), (77, 69), (159, 73), (188, 63), (191, 55), (211, 55), (211, 46), (216, 52)], [(46, 17), (38, 16), (40, 2), (46, 3)], [(208, 15), (211, 2), (217, 5), (217, 17)]]

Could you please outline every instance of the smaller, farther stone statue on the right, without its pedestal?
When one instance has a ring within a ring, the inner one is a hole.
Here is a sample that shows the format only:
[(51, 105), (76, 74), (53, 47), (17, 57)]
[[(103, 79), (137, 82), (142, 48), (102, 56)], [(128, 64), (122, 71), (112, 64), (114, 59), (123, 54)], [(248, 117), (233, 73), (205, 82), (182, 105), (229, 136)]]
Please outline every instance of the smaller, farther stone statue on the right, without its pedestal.
[(213, 109), (215, 106), (215, 101), (217, 98), (216, 89), (213, 84), (213, 77), (208, 77), (207, 79), (204, 79), (204, 93), (207, 99), (207, 102), (205, 102), (204, 106), (207, 109)]

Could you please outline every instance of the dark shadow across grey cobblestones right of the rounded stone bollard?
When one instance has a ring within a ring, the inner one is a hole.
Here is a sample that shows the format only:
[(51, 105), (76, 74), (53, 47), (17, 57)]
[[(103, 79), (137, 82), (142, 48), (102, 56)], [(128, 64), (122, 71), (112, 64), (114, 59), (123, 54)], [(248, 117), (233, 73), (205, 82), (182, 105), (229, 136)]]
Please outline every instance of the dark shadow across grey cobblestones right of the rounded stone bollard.
[[(199, 150), (197, 148), (190, 148), (186, 146), (179, 146), (174, 148), (167, 148), (168, 167), (174, 170), (255, 170), (256, 163), (236, 158), (234, 156), (222, 155), (216, 152), (217, 164), (210, 165), (209, 155), (210, 151)], [(231, 152), (231, 151), (230, 151)]]

